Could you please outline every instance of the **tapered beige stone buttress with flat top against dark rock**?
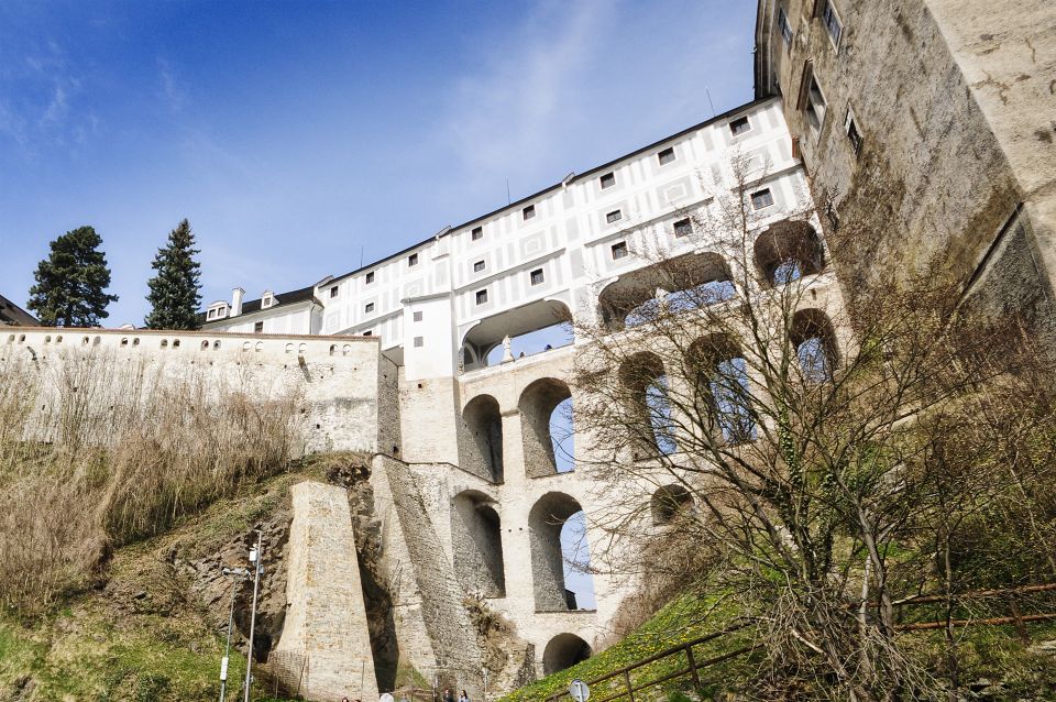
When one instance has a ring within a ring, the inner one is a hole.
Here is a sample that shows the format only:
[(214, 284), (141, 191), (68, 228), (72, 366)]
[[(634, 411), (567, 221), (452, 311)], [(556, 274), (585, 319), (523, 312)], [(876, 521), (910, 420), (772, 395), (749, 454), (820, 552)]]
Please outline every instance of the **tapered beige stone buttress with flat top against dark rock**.
[(377, 699), (348, 493), (316, 482), (292, 492), (287, 614), (275, 650), (307, 657), (309, 700)]

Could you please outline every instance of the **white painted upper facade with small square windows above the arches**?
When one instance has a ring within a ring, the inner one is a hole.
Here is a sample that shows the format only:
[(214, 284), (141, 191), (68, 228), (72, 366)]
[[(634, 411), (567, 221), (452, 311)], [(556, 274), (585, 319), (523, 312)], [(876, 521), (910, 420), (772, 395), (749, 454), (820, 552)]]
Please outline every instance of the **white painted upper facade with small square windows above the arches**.
[[(747, 129), (735, 124), (741, 118)], [(464, 368), (482, 365), (479, 357), (504, 336), (531, 331), (550, 316), (541, 303), (558, 303), (550, 307), (566, 307), (576, 319), (596, 315), (600, 286), (647, 264), (632, 253), (615, 257), (614, 245), (627, 242), (634, 252), (645, 237), (660, 233), (672, 254), (692, 250), (672, 226), (735, 188), (735, 156), (767, 174), (758, 187), (770, 188), (776, 220), (806, 202), (780, 102), (766, 100), (570, 176), (377, 263), (328, 276), (311, 303), (207, 320), (205, 327), (252, 332), (263, 321), (264, 333), (381, 337), (407, 380), (455, 375), (468, 340), (474, 348)], [(494, 321), (473, 332), (485, 320)]]

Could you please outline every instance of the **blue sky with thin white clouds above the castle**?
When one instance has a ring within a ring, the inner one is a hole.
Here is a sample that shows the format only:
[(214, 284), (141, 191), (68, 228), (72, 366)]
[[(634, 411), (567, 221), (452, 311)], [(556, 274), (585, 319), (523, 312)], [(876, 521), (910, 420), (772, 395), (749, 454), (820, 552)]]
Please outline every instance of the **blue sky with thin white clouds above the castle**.
[[(751, 99), (755, 2), (0, 2), (0, 294), (91, 224), (107, 326), (384, 257)], [(707, 92), (711, 92), (711, 102)]]

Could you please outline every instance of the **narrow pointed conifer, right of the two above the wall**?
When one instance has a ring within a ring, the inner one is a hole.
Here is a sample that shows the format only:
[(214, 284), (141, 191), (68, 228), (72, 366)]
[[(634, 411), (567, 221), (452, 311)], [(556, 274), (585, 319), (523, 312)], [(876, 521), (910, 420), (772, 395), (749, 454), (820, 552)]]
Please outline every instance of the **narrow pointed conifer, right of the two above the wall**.
[(157, 275), (147, 281), (146, 296), (151, 329), (198, 329), (198, 305), (201, 303), (201, 264), (195, 261), (195, 234), (185, 219), (168, 233), (168, 243), (157, 250), (151, 264)]

